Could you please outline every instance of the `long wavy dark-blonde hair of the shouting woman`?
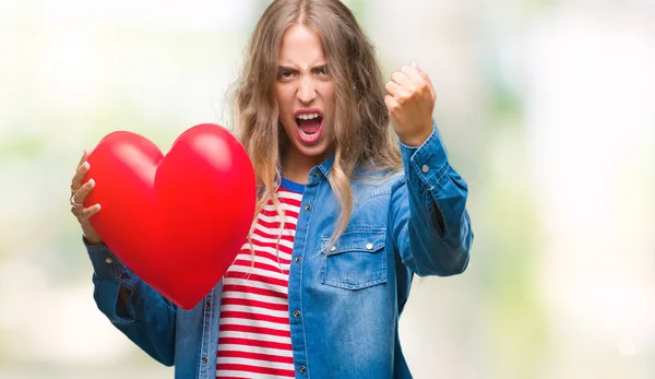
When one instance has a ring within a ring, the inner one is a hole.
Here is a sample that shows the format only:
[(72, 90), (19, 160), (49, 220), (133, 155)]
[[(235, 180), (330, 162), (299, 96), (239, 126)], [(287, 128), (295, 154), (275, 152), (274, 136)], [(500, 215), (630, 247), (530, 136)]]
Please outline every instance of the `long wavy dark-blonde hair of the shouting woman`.
[(273, 1), (257, 24), (234, 94), (235, 132), (252, 161), (259, 193), (252, 227), (270, 200), (283, 215), (275, 191), (281, 180), (281, 156), (289, 141), (278, 120), (274, 84), (282, 39), (294, 25), (319, 35), (335, 87), (335, 152), (327, 180), (340, 201), (341, 215), (331, 246), (350, 220), (355, 168), (361, 165), (395, 173), (402, 161), (384, 105), (376, 49), (350, 10), (338, 0)]

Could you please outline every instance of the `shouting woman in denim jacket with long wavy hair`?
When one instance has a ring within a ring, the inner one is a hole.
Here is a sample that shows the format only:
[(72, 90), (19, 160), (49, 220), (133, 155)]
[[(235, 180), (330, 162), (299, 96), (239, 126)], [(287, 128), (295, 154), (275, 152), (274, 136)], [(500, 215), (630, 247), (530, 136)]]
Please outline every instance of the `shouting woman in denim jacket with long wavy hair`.
[(410, 378), (397, 328), (412, 277), (463, 272), (473, 240), (428, 76), (407, 66), (384, 85), (338, 0), (274, 1), (247, 58), (236, 129), (260, 197), (240, 254), (177, 309), (91, 226), (85, 154), (71, 203), (98, 308), (176, 378)]

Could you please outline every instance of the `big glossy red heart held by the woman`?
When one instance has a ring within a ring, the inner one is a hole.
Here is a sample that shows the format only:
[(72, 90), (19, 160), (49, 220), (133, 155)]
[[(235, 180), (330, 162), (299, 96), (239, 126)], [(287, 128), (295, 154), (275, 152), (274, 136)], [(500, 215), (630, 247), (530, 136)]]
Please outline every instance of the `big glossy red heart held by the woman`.
[(99, 203), (91, 223), (136, 275), (183, 309), (223, 277), (254, 213), (252, 163), (223, 127), (183, 132), (164, 156), (128, 131), (106, 135), (88, 157)]

